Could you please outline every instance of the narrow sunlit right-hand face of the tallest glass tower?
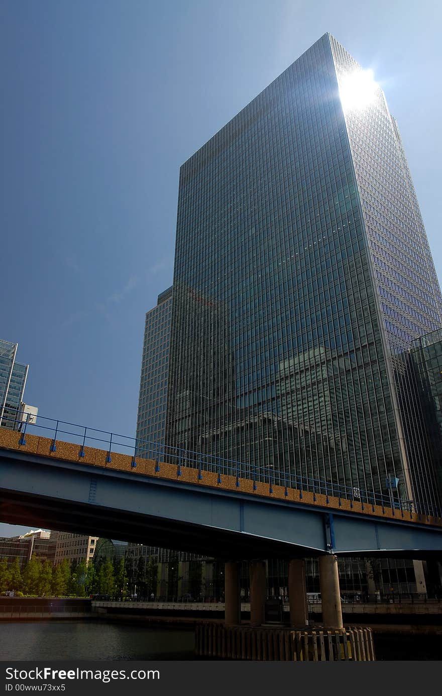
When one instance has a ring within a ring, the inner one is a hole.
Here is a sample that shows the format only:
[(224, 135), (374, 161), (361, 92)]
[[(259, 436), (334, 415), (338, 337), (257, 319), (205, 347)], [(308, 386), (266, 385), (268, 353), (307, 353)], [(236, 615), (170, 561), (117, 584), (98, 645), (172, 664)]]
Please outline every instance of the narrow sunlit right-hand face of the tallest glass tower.
[[(338, 84), (361, 68), (331, 40)], [(442, 325), (442, 298), (427, 235), (395, 119), (375, 90), (364, 109), (344, 109), (356, 182), (379, 297), (381, 339), (393, 382), (392, 406), (402, 452), (404, 494), (425, 503), (441, 498), (409, 363), (411, 342)], [(393, 476), (397, 474), (394, 464)], [(403, 478), (402, 478), (403, 476)]]

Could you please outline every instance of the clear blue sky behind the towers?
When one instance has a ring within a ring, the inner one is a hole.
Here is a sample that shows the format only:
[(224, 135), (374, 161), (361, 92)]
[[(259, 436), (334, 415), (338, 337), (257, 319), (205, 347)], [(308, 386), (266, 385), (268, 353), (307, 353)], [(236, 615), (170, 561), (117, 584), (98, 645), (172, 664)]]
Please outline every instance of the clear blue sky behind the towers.
[(441, 23), (432, 0), (3, 0), (0, 337), (26, 402), (134, 435), (180, 165), (326, 31), (384, 88), (440, 278)]

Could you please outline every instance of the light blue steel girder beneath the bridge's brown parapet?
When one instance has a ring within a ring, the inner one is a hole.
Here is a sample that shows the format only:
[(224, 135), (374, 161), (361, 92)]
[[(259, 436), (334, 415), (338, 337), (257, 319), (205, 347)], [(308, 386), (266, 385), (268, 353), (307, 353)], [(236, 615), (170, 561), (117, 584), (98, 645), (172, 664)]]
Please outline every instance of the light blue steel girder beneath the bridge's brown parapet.
[(0, 448), (0, 521), (217, 557), (441, 555), (442, 530)]

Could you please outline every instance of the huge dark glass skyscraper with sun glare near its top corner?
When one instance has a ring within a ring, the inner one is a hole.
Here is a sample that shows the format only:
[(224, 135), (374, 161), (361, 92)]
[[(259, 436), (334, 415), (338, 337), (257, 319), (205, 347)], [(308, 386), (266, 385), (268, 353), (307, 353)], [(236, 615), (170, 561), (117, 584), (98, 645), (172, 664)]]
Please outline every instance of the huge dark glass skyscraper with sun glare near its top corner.
[(166, 443), (440, 503), (409, 361), (439, 326), (396, 122), (327, 33), (181, 167)]

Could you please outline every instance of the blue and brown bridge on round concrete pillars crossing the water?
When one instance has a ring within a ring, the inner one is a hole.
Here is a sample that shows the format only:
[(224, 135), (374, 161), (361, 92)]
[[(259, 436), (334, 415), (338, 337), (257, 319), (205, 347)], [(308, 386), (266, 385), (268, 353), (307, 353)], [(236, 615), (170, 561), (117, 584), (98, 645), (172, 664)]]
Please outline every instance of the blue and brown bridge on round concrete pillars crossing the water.
[[(184, 450), (164, 456), (158, 445), (155, 457), (140, 457), (139, 441), (131, 445), (132, 454), (123, 454), (113, 451), (112, 434), (107, 434), (109, 448), (98, 449), (86, 446), (91, 437), (86, 428), (79, 444), (60, 439), (65, 434), (58, 421), (53, 437), (29, 434), (26, 424), (22, 432), (0, 429), (1, 521), (93, 531), (223, 558), (230, 624), (239, 616), (239, 560), (252, 562), (258, 622), (265, 568), (256, 559), (290, 560), (288, 585), (293, 596), (303, 597), (293, 608), (293, 620), (302, 623), (307, 620), (303, 558), (319, 557), (323, 606), (333, 607), (324, 622), (342, 626), (338, 555), (419, 559), (442, 551), (439, 512), (416, 501), (301, 477), (265, 481), (258, 468)], [(169, 461), (162, 461), (166, 457)]]

